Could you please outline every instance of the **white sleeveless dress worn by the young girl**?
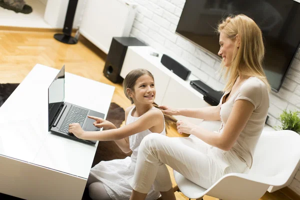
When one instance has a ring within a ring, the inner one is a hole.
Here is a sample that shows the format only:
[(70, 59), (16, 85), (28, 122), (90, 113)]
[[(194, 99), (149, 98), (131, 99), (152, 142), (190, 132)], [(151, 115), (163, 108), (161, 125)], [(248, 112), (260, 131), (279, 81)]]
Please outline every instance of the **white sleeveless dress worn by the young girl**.
[[(131, 115), (132, 109), (129, 111), (126, 124), (138, 120), (139, 117)], [(152, 107), (151, 109), (157, 109)], [(108, 193), (114, 200), (129, 199), (132, 193), (132, 187), (129, 184), (129, 179), (133, 177), (138, 146), (141, 140), (149, 133), (149, 129), (129, 136), (129, 148), (132, 150), (131, 156), (124, 159), (114, 159), (109, 161), (100, 161), (90, 170), (90, 175), (101, 181)], [(165, 135), (165, 126), (160, 134)], [(153, 200), (159, 197), (159, 191), (154, 191), (153, 186), (148, 192), (146, 199)]]

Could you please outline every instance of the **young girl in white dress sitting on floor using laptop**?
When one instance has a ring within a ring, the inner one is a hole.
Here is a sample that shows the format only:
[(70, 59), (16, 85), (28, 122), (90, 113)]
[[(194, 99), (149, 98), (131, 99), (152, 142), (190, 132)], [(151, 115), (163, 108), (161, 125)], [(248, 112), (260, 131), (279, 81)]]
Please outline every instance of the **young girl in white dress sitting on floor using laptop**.
[[(88, 117), (95, 119), (96, 127), (111, 129), (83, 131), (78, 123), (69, 124), (69, 132), (78, 138), (114, 140), (123, 152), (132, 150), (130, 157), (101, 161), (91, 169), (87, 185), (92, 199), (129, 199), (132, 192), (129, 181), (133, 176), (137, 150), (142, 138), (152, 132), (165, 135), (165, 123), (168, 126), (171, 122), (176, 122), (171, 116), (163, 115), (153, 104), (155, 87), (153, 75), (149, 71), (145, 69), (130, 71), (123, 81), (123, 89), (126, 97), (134, 103), (125, 110), (126, 125), (115, 128), (111, 122), (94, 116)], [(161, 192), (161, 195), (163, 196), (164, 193)], [(155, 189), (154, 183), (146, 199), (152, 200), (158, 197), (159, 191)]]

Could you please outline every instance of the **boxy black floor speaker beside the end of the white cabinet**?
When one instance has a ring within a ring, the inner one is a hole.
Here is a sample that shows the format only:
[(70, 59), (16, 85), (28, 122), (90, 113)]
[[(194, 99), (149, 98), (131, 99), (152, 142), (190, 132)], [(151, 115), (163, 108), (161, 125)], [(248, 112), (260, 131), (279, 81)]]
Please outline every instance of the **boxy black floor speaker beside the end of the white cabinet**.
[(122, 82), (120, 76), (128, 46), (146, 46), (135, 37), (112, 37), (103, 73), (111, 82)]

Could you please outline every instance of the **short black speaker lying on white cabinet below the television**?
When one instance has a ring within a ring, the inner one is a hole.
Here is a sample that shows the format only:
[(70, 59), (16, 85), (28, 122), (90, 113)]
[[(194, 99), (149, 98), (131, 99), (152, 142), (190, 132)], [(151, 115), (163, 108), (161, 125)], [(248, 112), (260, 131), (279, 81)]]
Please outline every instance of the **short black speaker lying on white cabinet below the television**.
[(186, 80), (190, 75), (190, 70), (188, 68), (166, 54), (161, 56), (160, 62), (183, 80)]

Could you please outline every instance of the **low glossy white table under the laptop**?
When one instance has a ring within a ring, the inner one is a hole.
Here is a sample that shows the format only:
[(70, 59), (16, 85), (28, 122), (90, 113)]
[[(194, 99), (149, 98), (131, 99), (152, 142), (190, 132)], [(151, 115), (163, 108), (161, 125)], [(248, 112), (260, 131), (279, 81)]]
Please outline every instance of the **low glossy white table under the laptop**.
[[(98, 142), (48, 132), (48, 86), (57, 72), (36, 64), (0, 107), (1, 193), (24, 199), (82, 197)], [(105, 117), (113, 91), (113, 86), (65, 73), (65, 101)]]

